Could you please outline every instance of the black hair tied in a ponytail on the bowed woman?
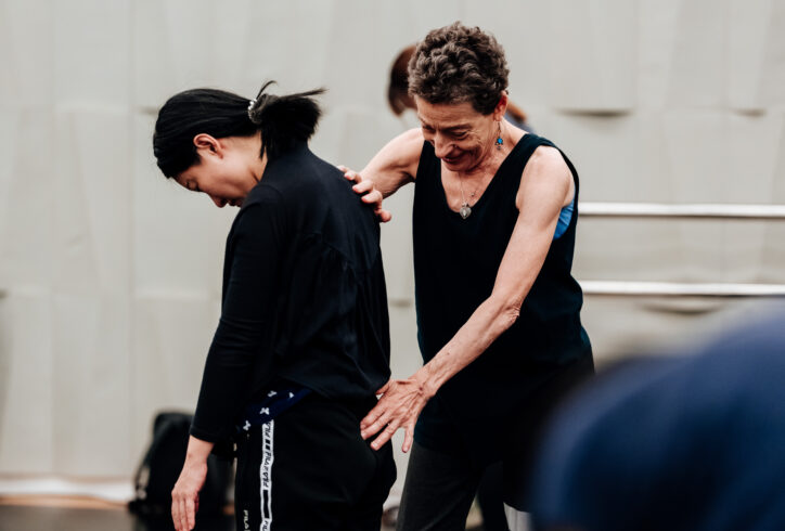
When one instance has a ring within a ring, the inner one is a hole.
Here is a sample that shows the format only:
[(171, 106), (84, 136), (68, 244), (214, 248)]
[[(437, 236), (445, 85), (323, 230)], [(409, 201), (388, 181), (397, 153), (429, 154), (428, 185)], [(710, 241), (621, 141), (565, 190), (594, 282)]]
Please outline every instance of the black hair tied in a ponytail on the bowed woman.
[(261, 132), (261, 150), (268, 160), (310, 139), (322, 115), (313, 96), (324, 89), (288, 95), (266, 93), (273, 82), (266, 82), (250, 101), (217, 89), (192, 89), (171, 96), (160, 107), (153, 133), (160, 171), (171, 178), (198, 163), (193, 139), (200, 133), (222, 139)]

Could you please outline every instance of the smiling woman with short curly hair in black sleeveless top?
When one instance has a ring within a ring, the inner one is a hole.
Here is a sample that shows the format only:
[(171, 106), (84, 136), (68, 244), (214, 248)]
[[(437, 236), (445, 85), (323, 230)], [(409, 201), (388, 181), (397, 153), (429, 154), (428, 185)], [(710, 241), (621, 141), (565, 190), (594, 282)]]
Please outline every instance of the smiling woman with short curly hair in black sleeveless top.
[(538, 430), (593, 372), (570, 272), (578, 173), (552, 142), (504, 117), (507, 74), (489, 34), (460, 23), (434, 29), (409, 62), (422, 127), (391, 140), (359, 174), (347, 171), (358, 192), (388, 196), (414, 183), (425, 364), (381, 388), (361, 425), (378, 448), (398, 428), (403, 451), (413, 444), (402, 530), (464, 529), (482, 471), (498, 462), (515, 529), (529, 505)]

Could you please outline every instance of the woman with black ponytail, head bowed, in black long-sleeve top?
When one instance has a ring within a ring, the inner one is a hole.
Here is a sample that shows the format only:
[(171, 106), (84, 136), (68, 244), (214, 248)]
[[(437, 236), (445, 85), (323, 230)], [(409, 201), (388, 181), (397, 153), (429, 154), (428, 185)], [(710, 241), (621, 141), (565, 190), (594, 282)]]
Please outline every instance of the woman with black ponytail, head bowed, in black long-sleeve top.
[(320, 91), (268, 86), (181, 92), (155, 126), (167, 178), (241, 207), (172, 519), (193, 529), (207, 455), (234, 441), (237, 529), (377, 530), (395, 464), (358, 425), (389, 378), (378, 223), (308, 148)]

